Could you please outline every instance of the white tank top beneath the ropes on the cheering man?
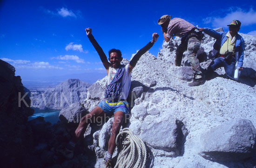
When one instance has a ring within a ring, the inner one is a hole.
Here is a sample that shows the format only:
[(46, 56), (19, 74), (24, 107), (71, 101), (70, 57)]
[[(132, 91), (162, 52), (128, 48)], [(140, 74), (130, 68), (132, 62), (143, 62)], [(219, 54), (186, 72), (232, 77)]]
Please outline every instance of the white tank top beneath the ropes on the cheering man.
[[(113, 79), (113, 77), (115, 76), (116, 69), (117, 68), (109, 67), (108, 85), (111, 82), (111, 80)], [(127, 64), (124, 69), (124, 74), (123, 74), (122, 81), (121, 81), (122, 91), (121, 91), (121, 95), (120, 95), (119, 99), (127, 99), (127, 97), (128, 97), (129, 90), (131, 87), (131, 73), (130, 74), (128, 74), (128, 73), (129, 73), (129, 64)]]

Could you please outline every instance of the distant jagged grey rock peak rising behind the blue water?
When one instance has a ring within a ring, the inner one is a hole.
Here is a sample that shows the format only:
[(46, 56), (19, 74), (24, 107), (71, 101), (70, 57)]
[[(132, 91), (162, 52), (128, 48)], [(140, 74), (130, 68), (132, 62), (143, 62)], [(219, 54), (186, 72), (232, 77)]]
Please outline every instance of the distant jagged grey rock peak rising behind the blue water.
[(31, 107), (40, 109), (62, 109), (75, 102), (83, 102), (89, 83), (79, 79), (68, 79), (43, 93), (31, 93)]

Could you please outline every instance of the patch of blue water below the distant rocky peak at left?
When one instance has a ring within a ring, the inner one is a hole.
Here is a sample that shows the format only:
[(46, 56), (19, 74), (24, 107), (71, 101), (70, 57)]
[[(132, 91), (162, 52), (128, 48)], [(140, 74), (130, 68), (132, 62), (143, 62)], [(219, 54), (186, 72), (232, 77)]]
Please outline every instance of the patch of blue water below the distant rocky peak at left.
[(55, 124), (59, 121), (59, 114), (61, 110), (53, 110), (53, 109), (47, 109), (47, 110), (40, 110), (39, 108), (33, 108), (34, 114), (28, 117), (28, 121), (33, 120), (37, 117), (44, 117), (45, 121), (48, 121), (52, 124)]

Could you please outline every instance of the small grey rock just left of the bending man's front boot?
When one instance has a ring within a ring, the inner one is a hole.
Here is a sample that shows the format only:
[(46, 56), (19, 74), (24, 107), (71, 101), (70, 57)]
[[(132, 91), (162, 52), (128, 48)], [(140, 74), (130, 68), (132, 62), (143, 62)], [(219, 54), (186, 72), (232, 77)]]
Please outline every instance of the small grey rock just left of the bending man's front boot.
[(194, 78), (193, 70), (189, 66), (179, 67), (172, 74), (179, 79), (186, 81), (191, 81), (191, 79)]

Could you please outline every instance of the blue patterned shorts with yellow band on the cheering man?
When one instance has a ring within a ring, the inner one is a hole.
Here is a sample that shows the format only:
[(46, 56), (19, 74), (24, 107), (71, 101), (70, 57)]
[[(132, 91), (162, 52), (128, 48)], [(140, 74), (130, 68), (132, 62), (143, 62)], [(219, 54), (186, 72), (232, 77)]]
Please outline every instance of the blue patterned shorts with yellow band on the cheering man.
[(129, 103), (127, 101), (119, 101), (108, 103), (106, 100), (101, 101), (98, 105), (107, 115), (113, 115), (117, 111), (122, 111), (124, 114), (129, 114)]

